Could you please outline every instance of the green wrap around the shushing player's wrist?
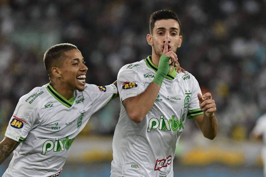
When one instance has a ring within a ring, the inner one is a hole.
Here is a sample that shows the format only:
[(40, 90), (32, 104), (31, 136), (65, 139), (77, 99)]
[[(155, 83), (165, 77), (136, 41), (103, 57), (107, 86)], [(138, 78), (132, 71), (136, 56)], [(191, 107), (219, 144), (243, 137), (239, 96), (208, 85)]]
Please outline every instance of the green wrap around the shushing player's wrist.
[(158, 71), (152, 82), (155, 82), (161, 86), (165, 76), (171, 69), (171, 66), (169, 65), (169, 59), (169, 57), (166, 57), (164, 54), (162, 54), (159, 61)]

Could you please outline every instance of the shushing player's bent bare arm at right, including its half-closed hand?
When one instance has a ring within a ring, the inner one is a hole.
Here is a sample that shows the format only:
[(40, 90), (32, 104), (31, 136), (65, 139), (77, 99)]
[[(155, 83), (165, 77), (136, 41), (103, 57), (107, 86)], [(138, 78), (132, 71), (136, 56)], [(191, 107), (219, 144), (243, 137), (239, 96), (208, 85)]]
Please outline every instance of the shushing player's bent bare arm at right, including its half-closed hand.
[(218, 131), (218, 121), (214, 115), (216, 111), (215, 101), (212, 100), (211, 93), (206, 93), (203, 95), (197, 94), (200, 108), (204, 112), (202, 115), (194, 116), (194, 120), (204, 137), (213, 140), (217, 135)]

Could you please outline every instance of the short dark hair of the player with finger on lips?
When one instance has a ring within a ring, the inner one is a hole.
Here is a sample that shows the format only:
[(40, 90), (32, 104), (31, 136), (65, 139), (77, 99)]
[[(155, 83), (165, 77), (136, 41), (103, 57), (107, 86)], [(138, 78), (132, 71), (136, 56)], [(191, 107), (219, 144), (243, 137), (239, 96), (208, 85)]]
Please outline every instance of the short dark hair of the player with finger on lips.
[(167, 19), (174, 19), (178, 22), (179, 27), (181, 28), (181, 23), (178, 20), (178, 17), (175, 12), (171, 10), (158, 10), (153, 12), (150, 17), (150, 33), (153, 34), (154, 24), (157, 20), (167, 20)]

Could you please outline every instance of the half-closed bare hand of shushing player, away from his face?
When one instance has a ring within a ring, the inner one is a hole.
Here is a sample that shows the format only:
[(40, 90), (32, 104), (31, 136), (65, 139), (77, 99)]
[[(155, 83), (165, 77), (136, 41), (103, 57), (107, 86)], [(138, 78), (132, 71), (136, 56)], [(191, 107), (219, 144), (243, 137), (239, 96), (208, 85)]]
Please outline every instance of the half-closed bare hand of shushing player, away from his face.
[(201, 96), (200, 93), (197, 94), (200, 109), (204, 112), (204, 114), (208, 117), (212, 117), (214, 115), (214, 112), (216, 111), (216, 105), (215, 101), (212, 100), (211, 93), (205, 93), (203, 96)]

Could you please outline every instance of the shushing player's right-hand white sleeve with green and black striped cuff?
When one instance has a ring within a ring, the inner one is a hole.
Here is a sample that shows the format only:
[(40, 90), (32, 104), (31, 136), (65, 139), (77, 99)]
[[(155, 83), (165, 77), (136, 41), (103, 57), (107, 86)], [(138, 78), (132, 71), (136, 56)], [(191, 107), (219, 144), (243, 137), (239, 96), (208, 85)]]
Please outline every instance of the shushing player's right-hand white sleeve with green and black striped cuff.
[(200, 109), (199, 100), (197, 96), (198, 93), (202, 95), (202, 92), (201, 92), (199, 83), (196, 80), (196, 78), (192, 74), (189, 74), (189, 75), (191, 77), (193, 90), (191, 91), (191, 98), (190, 98), (189, 105), (188, 105), (187, 118), (192, 119), (193, 116), (203, 114), (203, 111)]

